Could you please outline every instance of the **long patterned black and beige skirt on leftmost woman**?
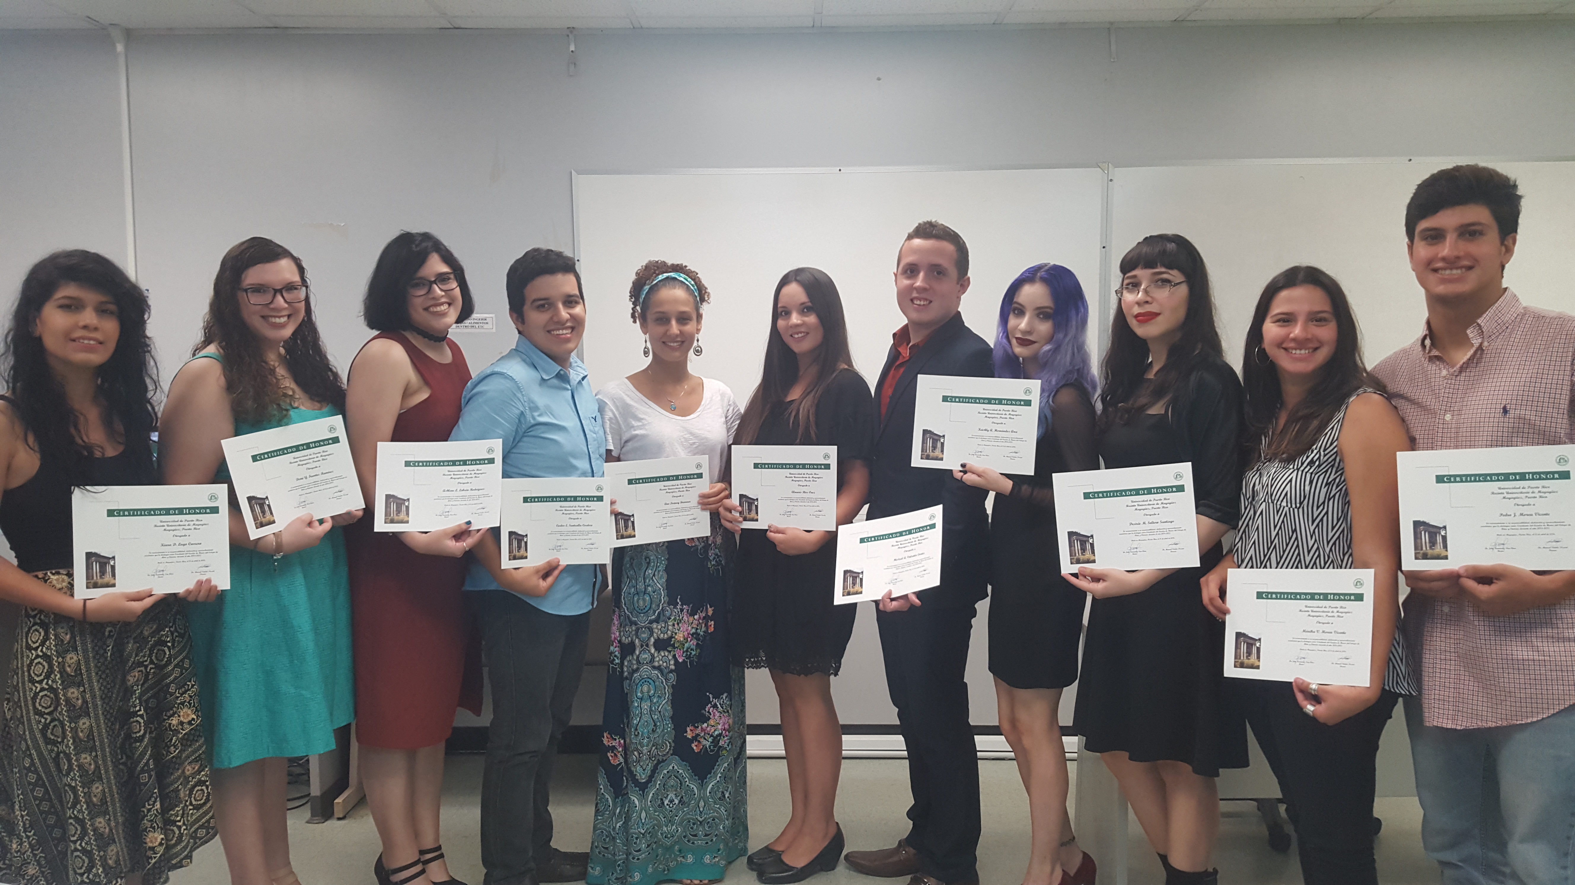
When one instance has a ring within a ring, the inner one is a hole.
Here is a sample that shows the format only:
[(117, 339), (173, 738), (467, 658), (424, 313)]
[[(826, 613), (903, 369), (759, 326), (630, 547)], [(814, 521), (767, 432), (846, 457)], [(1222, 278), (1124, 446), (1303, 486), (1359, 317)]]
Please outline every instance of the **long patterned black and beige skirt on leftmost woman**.
[[(35, 575), (71, 595), (71, 572)], [(145, 885), (217, 833), (184, 603), (131, 624), (24, 608), (0, 731), (0, 879)]]

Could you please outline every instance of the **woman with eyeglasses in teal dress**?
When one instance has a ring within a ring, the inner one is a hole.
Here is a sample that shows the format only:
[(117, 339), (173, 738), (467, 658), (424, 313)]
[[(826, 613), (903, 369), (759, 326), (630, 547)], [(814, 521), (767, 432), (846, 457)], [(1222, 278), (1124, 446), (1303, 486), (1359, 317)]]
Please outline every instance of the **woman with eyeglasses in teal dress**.
[[(343, 414), (345, 387), (307, 296), (306, 266), (271, 239), (224, 255), (202, 342), (164, 406), (165, 483), (228, 482), (222, 439)], [(298, 885), (285, 761), (332, 750), (334, 729), (354, 715), (339, 526), (361, 510), (302, 513), (250, 540), (230, 494), (230, 589), (189, 608), (214, 814), (233, 885)]]

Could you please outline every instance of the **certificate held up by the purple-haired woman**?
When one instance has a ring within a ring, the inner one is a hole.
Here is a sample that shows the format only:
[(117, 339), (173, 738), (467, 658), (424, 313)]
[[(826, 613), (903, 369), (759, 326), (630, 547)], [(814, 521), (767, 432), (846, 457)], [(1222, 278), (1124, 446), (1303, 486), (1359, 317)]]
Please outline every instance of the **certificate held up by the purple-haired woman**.
[(1040, 438), (1040, 381), (920, 375), (914, 402), (915, 468), (953, 469), (967, 461), (1006, 474), (1033, 474)]

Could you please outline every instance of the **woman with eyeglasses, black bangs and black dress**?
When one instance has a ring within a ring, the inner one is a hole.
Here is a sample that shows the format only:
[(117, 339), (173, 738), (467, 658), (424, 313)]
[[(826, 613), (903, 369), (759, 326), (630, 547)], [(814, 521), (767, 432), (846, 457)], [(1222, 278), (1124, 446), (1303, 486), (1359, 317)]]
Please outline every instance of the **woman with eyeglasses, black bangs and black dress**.
[(1210, 883), (1221, 768), (1247, 765), (1227, 710), (1224, 624), (1199, 580), (1221, 559), (1241, 504), (1241, 381), (1214, 328), (1208, 268), (1175, 233), (1121, 258), (1099, 392), (1106, 469), (1192, 461), (1202, 568), (1095, 568), (1066, 575), (1093, 597), (1077, 685), (1077, 732), (1099, 753), (1159, 854), (1167, 885)]

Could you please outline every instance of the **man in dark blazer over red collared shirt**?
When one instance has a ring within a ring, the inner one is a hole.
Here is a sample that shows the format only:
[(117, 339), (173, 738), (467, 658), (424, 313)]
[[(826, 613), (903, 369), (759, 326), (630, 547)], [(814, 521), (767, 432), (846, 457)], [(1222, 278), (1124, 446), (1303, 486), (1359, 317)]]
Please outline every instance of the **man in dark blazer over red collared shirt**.
[(973, 606), (989, 581), (984, 490), (947, 469), (910, 466), (914, 398), (920, 375), (991, 378), (991, 346), (962, 324), (969, 247), (950, 227), (920, 222), (902, 243), (898, 309), (907, 323), (891, 335), (874, 408), (879, 436), (869, 466), (868, 518), (943, 504), (940, 584), (882, 598), (876, 624), (887, 688), (907, 745), (912, 828), (893, 849), (847, 852), (868, 876), (910, 876), (909, 885), (978, 882), (980, 768), (969, 724), (964, 669)]

